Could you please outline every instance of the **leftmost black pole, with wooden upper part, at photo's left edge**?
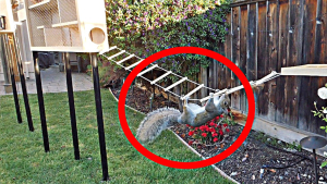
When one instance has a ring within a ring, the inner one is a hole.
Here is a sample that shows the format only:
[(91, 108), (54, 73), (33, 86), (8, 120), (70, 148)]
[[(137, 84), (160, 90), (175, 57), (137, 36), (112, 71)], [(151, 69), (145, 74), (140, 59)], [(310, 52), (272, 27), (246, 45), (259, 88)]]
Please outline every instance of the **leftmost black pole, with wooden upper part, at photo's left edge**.
[(15, 109), (16, 109), (16, 115), (17, 115), (17, 121), (19, 123), (22, 123), (22, 114), (21, 114), (21, 108), (20, 108), (20, 100), (19, 100), (19, 95), (17, 95), (17, 88), (16, 88), (16, 82), (15, 82), (15, 74), (14, 74), (14, 70), (13, 70), (13, 61), (12, 61), (12, 52), (11, 52), (11, 48), (10, 48), (10, 42), (9, 42), (9, 38), (8, 35), (3, 35), (2, 37), (3, 39), (3, 45), (4, 45), (4, 49), (5, 50), (5, 60), (8, 62), (9, 65), (9, 71), (11, 74), (11, 85), (12, 85), (12, 94), (14, 97), (14, 102), (15, 102)]

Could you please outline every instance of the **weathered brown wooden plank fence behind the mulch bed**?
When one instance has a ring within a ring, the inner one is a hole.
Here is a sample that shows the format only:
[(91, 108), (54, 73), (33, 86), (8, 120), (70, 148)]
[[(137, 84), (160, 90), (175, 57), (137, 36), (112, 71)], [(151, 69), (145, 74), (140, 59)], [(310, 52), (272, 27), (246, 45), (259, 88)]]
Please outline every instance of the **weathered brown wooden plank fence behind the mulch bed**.
[[(282, 66), (327, 63), (327, 0), (252, 0), (232, 3), (223, 54), (249, 81)], [(240, 85), (219, 62), (202, 70), (199, 81), (213, 88)], [(327, 77), (280, 76), (254, 88), (258, 116), (303, 131), (325, 135), (325, 123), (313, 116), (314, 101), (326, 107), (317, 89)], [(192, 86), (191, 86), (192, 88)], [(202, 96), (207, 91), (203, 90)], [(232, 108), (246, 113), (244, 91), (231, 95)]]

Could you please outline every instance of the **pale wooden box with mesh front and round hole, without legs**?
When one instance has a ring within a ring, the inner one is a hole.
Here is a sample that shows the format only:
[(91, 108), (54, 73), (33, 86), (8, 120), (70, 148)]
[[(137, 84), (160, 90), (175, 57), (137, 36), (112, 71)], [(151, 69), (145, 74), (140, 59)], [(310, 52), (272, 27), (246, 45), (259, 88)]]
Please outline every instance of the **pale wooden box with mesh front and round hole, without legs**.
[(26, 0), (33, 51), (99, 52), (108, 49), (104, 0)]

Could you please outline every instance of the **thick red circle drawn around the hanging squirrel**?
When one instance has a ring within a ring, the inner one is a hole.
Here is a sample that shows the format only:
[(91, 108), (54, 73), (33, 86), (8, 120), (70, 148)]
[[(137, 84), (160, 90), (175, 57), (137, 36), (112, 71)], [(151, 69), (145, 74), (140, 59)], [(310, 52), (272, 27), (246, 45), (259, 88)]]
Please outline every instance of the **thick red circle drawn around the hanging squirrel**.
[[(222, 64), (228, 66), (239, 77), (239, 79), (241, 81), (241, 83), (244, 86), (246, 97), (247, 97), (249, 113), (247, 113), (246, 123), (245, 123), (245, 126), (244, 126), (242, 133), (240, 134), (238, 139), (229, 148), (227, 148), (221, 154), (219, 154), (215, 157), (211, 157), (209, 159), (206, 159), (206, 160), (194, 161), (194, 162), (181, 162), (181, 161), (172, 161), (172, 160), (161, 158), (161, 157), (150, 152), (149, 150), (147, 150), (145, 147), (143, 147), (137, 142), (137, 139), (132, 134), (132, 132), (129, 127), (128, 121), (126, 121), (125, 108), (124, 108), (125, 107), (124, 105), (125, 105), (126, 94), (129, 91), (129, 88), (130, 88), (132, 82), (136, 77), (136, 75), (144, 68), (146, 68), (148, 64), (150, 64), (150, 63), (153, 63), (153, 62), (155, 62), (155, 61), (157, 61), (161, 58), (172, 56), (172, 54), (180, 54), (180, 53), (202, 54), (202, 56), (206, 56), (206, 57), (209, 57), (211, 59), (215, 59), (215, 60), (221, 62)], [(134, 70), (126, 77), (126, 79), (125, 79), (125, 82), (124, 82), (124, 84), (121, 88), (119, 102), (118, 102), (118, 113), (119, 113), (119, 120), (120, 120), (120, 123), (121, 123), (121, 127), (122, 127), (125, 136), (128, 137), (130, 143), (135, 147), (135, 149), (138, 150), (143, 156), (145, 156), (146, 158), (148, 158), (148, 159), (150, 159), (150, 160), (153, 160), (153, 161), (155, 161), (159, 164), (170, 167), (170, 168), (197, 169), (197, 168), (204, 168), (204, 167), (208, 167), (210, 164), (215, 164), (215, 163), (226, 159), (227, 157), (229, 157), (231, 154), (233, 154), (243, 144), (243, 142), (246, 139), (246, 137), (247, 137), (247, 135), (249, 135), (249, 133), (252, 128), (252, 124), (253, 124), (253, 121), (254, 121), (255, 100), (254, 100), (254, 95), (253, 95), (252, 87), (251, 87), (246, 76), (229, 59), (225, 58), (223, 56), (221, 56), (217, 52), (214, 52), (211, 50), (204, 49), (204, 48), (198, 48), (198, 47), (175, 47), (175, 48), (170, 48), (170, 49), (166, 49), (166, 50), (159, 51), (157, 53), (154, 53), (150, 57), (146, 58), (144, 61), (142, 61), (138, 65), (136, 65), (134, 68)]]

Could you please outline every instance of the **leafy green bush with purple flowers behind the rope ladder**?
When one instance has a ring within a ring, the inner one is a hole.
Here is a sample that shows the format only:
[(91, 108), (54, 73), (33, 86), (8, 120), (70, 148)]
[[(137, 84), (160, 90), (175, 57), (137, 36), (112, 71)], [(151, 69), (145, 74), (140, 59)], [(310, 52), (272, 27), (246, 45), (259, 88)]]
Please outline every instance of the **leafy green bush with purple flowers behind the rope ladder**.
[[(106, 4), (109, 44), (143, 58), (178, 46), (218, 51), (228, 33), (228, 0), (107, 0)], [(209, 64), (197, 54), (175, 54), (157, 62), (193, 79), (199, 66)]]

